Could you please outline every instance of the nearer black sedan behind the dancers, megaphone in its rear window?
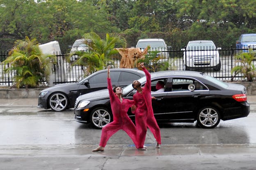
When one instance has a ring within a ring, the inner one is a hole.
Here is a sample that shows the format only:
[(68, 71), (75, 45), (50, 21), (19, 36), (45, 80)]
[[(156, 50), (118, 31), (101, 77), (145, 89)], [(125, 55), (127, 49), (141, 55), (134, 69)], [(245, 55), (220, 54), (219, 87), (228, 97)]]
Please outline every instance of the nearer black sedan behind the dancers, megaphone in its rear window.
[[(144, 85), (146, 78), (139, 81)], [(154, 93), (155, 84), (164, 81), (165, 92)], [(165, 71), (151, 74), (151, 95), (155, 119), (158, 123), (197, 121), (202, 128), (214, 128), (224, 121), (248, 116), (246, 88), (224, 83), (211, 76), (193, 71)], [(123, 88), (123, 98), (133, 99), (132, 85)], [(75, 101), (75, 121), (91, 123), (102, 128), (112, 121), (107, 90), (79, 96)], [(135, 116), (128, 111), (134, 121)]]

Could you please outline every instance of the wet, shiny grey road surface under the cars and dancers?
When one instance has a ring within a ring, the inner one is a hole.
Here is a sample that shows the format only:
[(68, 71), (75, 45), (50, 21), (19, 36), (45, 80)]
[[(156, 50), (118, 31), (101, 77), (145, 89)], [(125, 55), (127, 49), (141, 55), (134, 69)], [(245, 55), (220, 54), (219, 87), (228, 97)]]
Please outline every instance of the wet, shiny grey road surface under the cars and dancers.
[[(256, 105), (256, 104), (255, 104)], [(35, 108), (0, 108), (0, 145), (96, 144), (101, 130), (73, 120), (73, 110), (52, 112)], [(162, 144), (252, 144), (256, 143), (256, 109), (248, 117), (221, 121), (217, 128), (201, 129), (196, 123), (160, 124)], [(109, 144), (133, 143), (119, 131)], [(145, 144), (154, 144), (148, 130)]]

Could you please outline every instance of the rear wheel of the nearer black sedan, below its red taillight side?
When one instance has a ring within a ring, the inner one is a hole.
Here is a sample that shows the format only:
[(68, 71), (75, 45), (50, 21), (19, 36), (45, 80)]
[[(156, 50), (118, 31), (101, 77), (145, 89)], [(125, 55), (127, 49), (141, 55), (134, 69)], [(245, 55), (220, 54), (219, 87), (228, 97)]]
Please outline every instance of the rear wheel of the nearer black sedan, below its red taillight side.
[(215, 128), (220, 121), (219, 111), (212, 106), (203, 107), (197, 114), (197, 123), (201, 128)]

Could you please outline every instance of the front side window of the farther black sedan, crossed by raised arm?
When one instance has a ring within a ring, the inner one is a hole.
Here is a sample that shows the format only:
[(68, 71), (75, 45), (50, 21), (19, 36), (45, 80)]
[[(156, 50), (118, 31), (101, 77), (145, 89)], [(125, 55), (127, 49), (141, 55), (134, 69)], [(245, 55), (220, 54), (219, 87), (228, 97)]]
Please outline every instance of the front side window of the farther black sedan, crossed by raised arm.
[[(117, 78), (120, 72), (110, 72), (110, 78), (112, 82), (117, 82)], [(90, 84), (107, 83), (107, 72), (96, 74), (89, 79)]]

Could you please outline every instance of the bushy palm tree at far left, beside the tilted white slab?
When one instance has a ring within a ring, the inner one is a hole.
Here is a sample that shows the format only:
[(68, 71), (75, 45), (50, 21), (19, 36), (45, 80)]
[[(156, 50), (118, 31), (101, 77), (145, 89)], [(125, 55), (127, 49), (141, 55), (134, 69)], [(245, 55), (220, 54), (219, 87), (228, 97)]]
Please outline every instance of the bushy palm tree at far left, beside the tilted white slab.
[[(39, 87), (46, 80), (49, 82), (50, 69), (56, 63), (56, 56), (43, 55), (36, 39), (16, 40), (9, 56), (3, 61), (5, 72), (15, 72), (14, 82), (16, 87)], [(10, 67), (6, 68), (9, 64)]]

